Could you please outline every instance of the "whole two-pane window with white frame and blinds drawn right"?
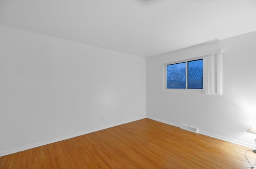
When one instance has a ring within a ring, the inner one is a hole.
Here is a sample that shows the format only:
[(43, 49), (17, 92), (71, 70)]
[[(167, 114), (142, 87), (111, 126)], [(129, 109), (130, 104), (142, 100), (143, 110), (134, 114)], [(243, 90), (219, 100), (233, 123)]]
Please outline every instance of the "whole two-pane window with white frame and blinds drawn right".
[(181, 61), (163, 61), (166, 92), (222, 94), (222, 49)]

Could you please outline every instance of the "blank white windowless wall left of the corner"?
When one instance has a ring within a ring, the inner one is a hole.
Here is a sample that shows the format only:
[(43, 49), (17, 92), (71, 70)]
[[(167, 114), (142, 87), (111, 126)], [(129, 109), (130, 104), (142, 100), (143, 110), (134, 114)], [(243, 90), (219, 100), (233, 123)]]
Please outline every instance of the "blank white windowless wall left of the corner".
[(0, 156), (145, 118), (145, 86), (145, 58), (0, 26)]

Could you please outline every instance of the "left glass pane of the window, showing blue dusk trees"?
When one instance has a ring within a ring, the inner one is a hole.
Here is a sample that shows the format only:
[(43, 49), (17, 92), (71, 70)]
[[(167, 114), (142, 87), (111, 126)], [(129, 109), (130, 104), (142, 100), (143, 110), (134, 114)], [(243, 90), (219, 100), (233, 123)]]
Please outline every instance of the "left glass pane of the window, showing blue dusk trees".
[(167, 65), (166, 88), (186, 88), (186, 62)]

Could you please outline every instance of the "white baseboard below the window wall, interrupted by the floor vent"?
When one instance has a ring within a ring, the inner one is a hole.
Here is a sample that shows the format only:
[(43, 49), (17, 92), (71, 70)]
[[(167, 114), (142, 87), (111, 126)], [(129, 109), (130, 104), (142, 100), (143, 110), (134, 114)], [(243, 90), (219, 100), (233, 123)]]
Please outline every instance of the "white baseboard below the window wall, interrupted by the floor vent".
[[(165, 124), (169, 124), (169, 125), (171, 125), (171, 126), (175, 126), (175, 127), (178, 127), (178, 128), (180, 127), (180, 124), (175, 124), (175, 123), (172, 123), (172, 122), (167, 122), (167, 121), (160, 120), (160, 119), (158, 119), (158, 118), (153, 118), (153, 117), (150, 117), (150, 116), (147, 116), (147, 118), (152, 119), (152, 120), (156, 120), (156, 121), (158, 121), (158, 122), (162, 122), (162, 123), (165, 123)], [(255, 148), (255, 145), (249, 144), (249, 143), (245, 143), (245, 142), (242, 142), (242, 141), (233, 140), (233, 139), (230, 139), (230, 138), (225, 138), (225, 137), (222, 137), (222, 136), (218, 136), (218, 135), (215, 135), (215, 134), (203, 132), (203, 131), (200, 131), (200, 130), (198, 130), (198, 133), (199, 133), (199, 134), (203, 134), (203, 135), (205, 135), (205, 136), (212, 137), (212, 138), (216, 138), (216, 139), (219, 139), (219, 140), (224, 140), (224, 141), (228, 141), (228, 142), (230, 142), (230, 143), (242, 145), (242, 146), (244, 146), (244, 147), (248, 147), (248, 148), (251, 148), (251, 149), (254, 149), (254, 148)]]

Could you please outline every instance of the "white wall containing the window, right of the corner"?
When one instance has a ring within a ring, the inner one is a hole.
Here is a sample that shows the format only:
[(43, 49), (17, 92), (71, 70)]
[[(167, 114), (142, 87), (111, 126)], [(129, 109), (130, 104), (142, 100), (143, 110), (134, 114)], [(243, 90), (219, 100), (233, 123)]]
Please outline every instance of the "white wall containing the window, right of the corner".
[[(224, 50), (222, 95), (162, 92), (162, 60), (218, 48)], [(146, 70), (149, 118), (187, 124), (202, 134), (255, 148), (256, 135), (246, 130), (256, 120), (256, 31), (149, 57)]]

